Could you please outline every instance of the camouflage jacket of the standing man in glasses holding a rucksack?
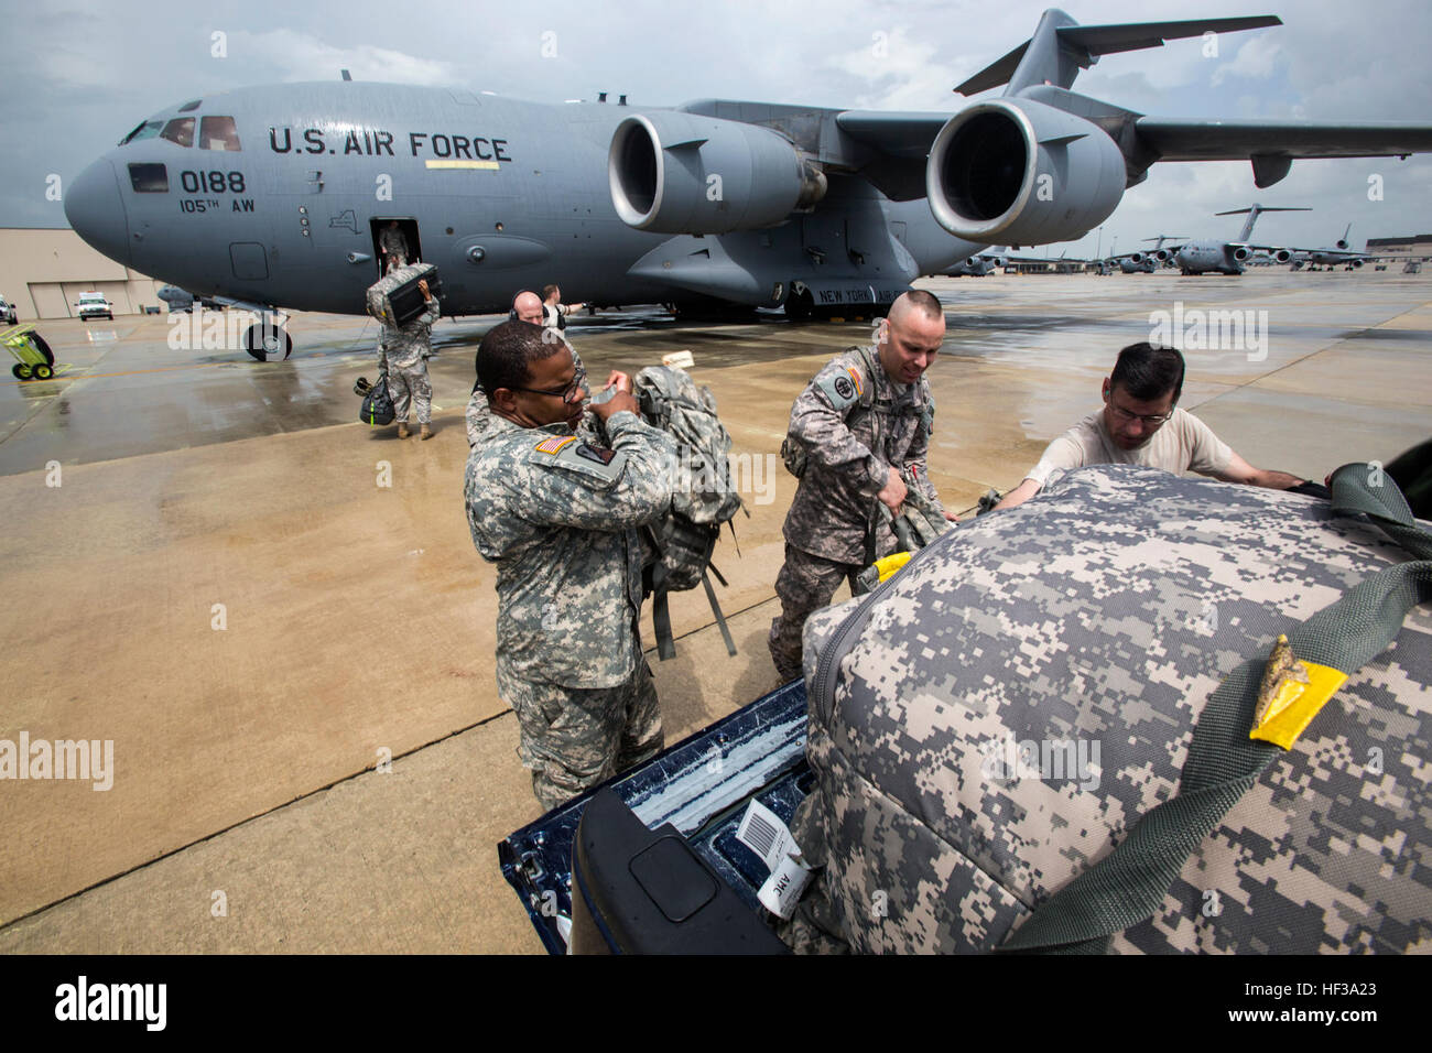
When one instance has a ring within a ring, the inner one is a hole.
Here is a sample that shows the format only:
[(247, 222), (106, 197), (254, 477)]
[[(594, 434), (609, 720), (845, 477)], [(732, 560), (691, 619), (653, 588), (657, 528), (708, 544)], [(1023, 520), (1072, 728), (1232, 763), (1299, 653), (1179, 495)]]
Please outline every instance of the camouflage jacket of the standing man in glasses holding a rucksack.
[(614, 688), (640, 659), (636, 527), (666, 514), (676, 447), (633, 413), (607, 433), (610, 450), (487, 414), (468, 457), (467, 520), (497, 563), (497, 660), (514, 676)]

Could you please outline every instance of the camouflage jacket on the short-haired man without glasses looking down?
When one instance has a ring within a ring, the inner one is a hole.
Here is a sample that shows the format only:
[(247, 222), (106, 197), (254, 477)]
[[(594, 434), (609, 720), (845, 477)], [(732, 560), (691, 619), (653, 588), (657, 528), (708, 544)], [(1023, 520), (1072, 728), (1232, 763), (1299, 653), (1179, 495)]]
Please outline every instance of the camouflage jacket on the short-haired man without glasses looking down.
[(863, 563), (875, 523), (875, 554), (894, 552), (895, 536), (878, 519), (876, 494), (895, 467), (909, 468), (925, 496), (938, 500), (925, 470), (934, 415), (924, 377), (895, 384), (868, 347), (833, 358), (790, 407), (789, 440), (805, 450), (806, 467), (786, 513), (786, 543), (841, 563)]

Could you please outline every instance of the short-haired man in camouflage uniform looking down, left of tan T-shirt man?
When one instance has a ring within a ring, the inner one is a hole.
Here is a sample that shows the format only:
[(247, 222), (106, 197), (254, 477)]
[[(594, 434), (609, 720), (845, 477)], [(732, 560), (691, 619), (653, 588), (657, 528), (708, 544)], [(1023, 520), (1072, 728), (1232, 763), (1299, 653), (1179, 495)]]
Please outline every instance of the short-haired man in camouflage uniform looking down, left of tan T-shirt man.
[(800, 629), (809, 613), (831, 602), (841, 579), (853, 586), (865, 566), (895, 552), (879, 506), (899, 511), (902, 470), (938, 507), (925, 470), (935, 403), (924, 372), (944, 337), (939, 301), (906, 292), (891, 305), (875, 347), (832, 360), (790, 407), (785, 450), (803, 456), (805, 468), (786, 513), (786, 562), (776, 577), (780, 616), (768, 640), (782, 681), (800, 676)]

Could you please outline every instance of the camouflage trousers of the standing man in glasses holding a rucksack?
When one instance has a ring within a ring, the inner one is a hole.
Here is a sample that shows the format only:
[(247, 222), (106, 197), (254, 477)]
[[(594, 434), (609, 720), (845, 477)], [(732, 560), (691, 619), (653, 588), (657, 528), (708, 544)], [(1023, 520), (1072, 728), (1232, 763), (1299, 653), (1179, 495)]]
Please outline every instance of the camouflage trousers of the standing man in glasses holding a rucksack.
[(524, 681), (498, 662), (497, 692), (517, 713), (517, 755), (548, 811), (662, 752), (662, 709), (644, 658), (626, 683), (593, 691)]

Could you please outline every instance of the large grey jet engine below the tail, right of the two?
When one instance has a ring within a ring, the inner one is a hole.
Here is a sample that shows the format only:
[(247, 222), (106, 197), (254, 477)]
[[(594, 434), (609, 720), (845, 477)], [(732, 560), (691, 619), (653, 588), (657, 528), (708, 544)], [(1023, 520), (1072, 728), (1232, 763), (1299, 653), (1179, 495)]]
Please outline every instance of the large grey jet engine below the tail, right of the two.
[(929, 148), (929, 211), (957, 238), (1042, 245), (1083, 238), (1124, 196), (1124, 155), (1097, 125), (1032, 99), (959, 110)]

